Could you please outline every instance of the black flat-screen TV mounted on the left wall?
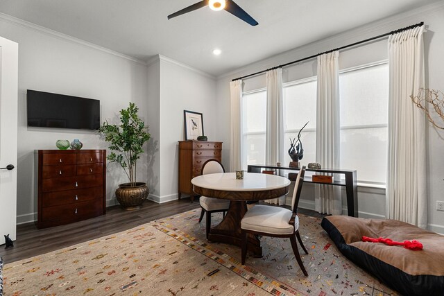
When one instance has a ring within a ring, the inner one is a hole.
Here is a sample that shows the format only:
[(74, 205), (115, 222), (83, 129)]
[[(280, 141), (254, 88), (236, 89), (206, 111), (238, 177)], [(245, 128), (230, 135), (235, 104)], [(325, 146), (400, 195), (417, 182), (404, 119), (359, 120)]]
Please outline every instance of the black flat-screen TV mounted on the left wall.
[(28, 126), (87, 130), (100, 127), (99, 100), (28, 89), (26, 107)]

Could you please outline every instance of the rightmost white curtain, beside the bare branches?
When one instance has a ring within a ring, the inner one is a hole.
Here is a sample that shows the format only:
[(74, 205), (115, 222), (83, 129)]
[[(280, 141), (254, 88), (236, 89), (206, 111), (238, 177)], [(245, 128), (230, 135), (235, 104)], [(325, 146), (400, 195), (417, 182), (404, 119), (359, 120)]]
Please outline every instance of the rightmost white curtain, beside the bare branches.
[(427, 227), (426, 121), (410, 96), (424, 87), (424, 26), (388, 39), (386, 217)]

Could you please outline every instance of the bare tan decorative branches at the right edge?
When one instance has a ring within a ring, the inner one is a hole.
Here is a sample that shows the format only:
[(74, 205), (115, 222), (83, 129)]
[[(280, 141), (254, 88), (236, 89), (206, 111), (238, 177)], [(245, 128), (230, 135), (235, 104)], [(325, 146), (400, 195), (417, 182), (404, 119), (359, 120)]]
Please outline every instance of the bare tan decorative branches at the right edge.
[[(427, 119), (436, 127), (444, 130), (444, 94), (436, 89), (420, 88), (416, 96), (410, 96), (411, 101), (427, 115)], [(427, 108), (429, 105), (429, 108)], [(432, 110), (434, 112), (432, 112)], [(443, 125), (436, 123), (433, 113), (438, 114)]]

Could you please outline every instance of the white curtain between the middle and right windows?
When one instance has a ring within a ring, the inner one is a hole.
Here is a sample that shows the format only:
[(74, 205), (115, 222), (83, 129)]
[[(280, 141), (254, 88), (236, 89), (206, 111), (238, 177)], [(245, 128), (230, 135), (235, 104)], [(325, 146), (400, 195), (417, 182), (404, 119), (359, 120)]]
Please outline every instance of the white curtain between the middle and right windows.
[[(323, 168), (339, 168), (339, 51), (318, 55), (316, 93), (316, 162)], [(334, 176), (336, 179), (337, 175)], [(316, 185), (314, 206), (319, 213), (342, 214), (339, 186)]]

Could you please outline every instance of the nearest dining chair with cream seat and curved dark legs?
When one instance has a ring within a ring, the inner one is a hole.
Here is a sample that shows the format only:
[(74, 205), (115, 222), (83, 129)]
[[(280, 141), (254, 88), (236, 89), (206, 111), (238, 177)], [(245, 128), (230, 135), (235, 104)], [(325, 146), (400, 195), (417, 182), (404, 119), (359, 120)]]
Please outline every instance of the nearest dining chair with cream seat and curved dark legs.
[(291, 210), (283, 207), (274, 207), (268, 205), (257, 204), (246, 212), (244, 218), (241, 220), (241, 263), (245, 264), (247, 255), (247, 234), (258, 234), (261, 236), (273, 236), (290, 238), (291, 247), (293, 249), (296, 261), (299, 267), (307, 277), (308, 273), (305, 270), (302, 259), (298, 251), (298, 244), (296, 238), (304, 250), (308, 254), (304, 243), (299, 234), (299, 218), (297, 215), (298, 203), (300, 198), (300, 191), (302, 191), (302, 183), (304, 182), (305, 166), (299, 170), (296, 182), (294, 184), (293, 197), (291, 198)]

